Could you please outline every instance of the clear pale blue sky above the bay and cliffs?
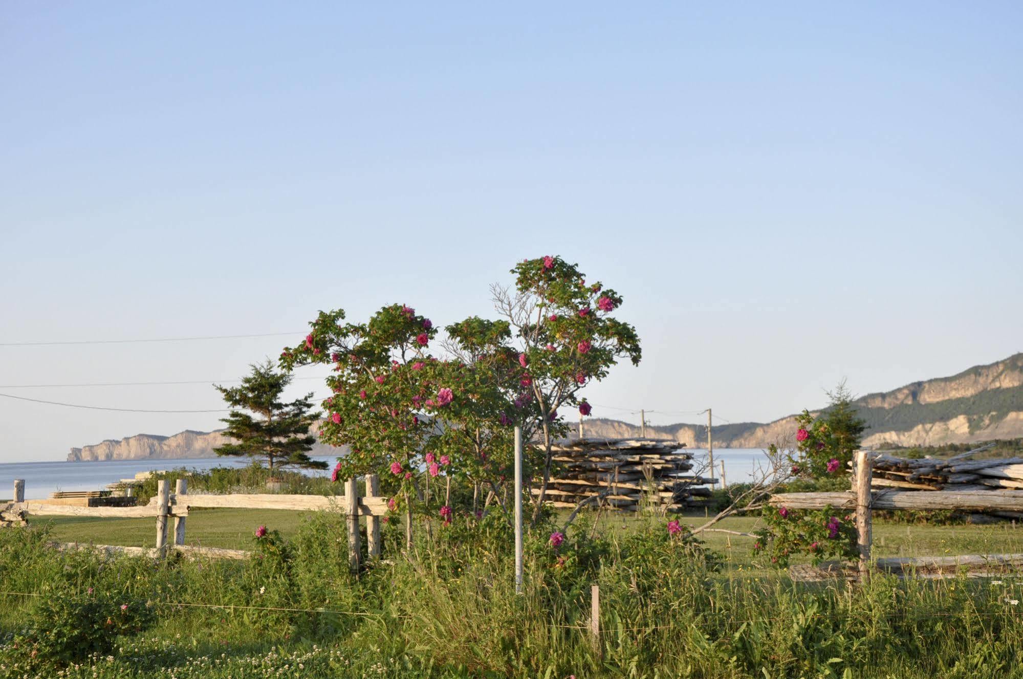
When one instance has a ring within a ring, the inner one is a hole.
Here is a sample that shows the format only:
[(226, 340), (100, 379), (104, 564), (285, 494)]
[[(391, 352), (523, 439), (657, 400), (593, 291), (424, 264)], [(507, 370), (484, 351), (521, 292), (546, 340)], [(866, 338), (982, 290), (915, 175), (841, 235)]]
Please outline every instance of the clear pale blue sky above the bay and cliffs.
[[(1023, 350), (1021, 29), (1018, 3), (6, 3), (0, 343), (446, 323), (558, 254), (644, 344), (597, 415), (951, 374)], [(227, 379), (284, 340), (0, 347), (0, 384)], [(0, 461), (218, 416), (0, 401)]]

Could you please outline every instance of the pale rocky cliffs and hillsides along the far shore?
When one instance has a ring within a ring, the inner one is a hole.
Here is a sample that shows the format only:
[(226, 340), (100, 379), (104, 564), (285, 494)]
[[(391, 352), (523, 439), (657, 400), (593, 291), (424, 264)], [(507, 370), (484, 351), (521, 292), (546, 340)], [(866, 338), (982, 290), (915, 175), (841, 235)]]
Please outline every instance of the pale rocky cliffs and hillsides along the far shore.
[[(883, 394), (868, 394), (855, 401), (866, 420), (863, 445), (933, 446), (993, 439), (1023, 438), (1023, 354), (979, 365), (952, 375), (913, 382)], [(594, 418), (585, 423), (587, 437), (638, 437), (639, 426), (614, 419)], [(772, 422), (737, 422), (714, 425), (715, 448), (764, 448), (791, 443), (796, 419), (789, 415)], [(691, 448), (707, 444), (703, 424), (648, 426), (647, 436), (684, 443)], [(171, 437), (140, 434), (72, 448), (71, 461), (132, 460), (145, 458), (216, 457), (213, 449), (226, 442), (221, 432), (181, 432)], [(313, 455), (331, 455), (337, 448), (317, 444)]]

